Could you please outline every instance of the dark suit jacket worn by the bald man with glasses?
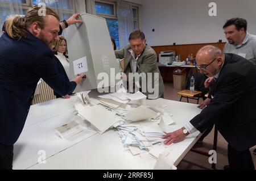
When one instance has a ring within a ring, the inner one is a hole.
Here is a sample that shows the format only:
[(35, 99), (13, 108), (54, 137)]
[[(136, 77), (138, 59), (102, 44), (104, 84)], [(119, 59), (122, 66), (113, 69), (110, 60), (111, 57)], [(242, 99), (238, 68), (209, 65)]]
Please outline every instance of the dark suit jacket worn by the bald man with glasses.
[(225, 140), (236, 150), (256, 145), (256, 67), (236, 54), (225, 54), (214, 98), (190, 122), (200, 132), (217, 124)]

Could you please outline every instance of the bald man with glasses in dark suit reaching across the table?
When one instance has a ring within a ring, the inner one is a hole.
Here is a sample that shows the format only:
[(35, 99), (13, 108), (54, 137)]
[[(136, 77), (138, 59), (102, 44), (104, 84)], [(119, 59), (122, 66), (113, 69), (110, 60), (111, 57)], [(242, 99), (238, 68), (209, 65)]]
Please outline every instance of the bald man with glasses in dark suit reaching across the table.
[[(256, 67), (233, 53), (222, 53), (212, 45), (197, 52), (197, 68), (207, 77), (216, 78), (210, 103), (188, 124), (162, 138), (170, 145), (189, 134), (203, 133), (213, 124), (228, 142), (230, 169), (254, 170), (250, 148), (256, 145)], [(218, 159), (217, 159), (218, 160)]]

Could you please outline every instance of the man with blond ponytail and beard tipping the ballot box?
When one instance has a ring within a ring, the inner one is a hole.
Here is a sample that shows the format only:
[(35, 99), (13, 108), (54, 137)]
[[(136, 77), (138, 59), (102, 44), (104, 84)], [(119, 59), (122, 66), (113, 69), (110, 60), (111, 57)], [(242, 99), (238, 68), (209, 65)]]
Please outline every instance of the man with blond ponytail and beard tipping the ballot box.
[(67, 82), (56, 72), (54, 54), (49, 48), (59, 39), (60, 19), (46, 7), (34, 6), (24, 17), (6, 21), (0, 37), (0, 169), (12, 169), (13, 145), (24, 127), (31, 100), (40, 78), (60, 95), (67, 95), (84, 75)]

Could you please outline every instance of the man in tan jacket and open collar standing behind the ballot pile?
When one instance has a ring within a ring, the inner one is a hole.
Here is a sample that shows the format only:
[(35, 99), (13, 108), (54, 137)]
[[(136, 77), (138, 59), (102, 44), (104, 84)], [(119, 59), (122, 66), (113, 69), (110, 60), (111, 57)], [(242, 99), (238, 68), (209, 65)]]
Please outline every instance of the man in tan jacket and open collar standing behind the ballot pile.
[(148, 99), (163, 98), (164, 84), (155, 50), (146, 45), (145, 35), (140, 30), (130, 33), (129, 43), (124, 49), (115, 50), (117, 58), (124, 58), (123, 72), (129, 87), (136, 89), (137, 86)]

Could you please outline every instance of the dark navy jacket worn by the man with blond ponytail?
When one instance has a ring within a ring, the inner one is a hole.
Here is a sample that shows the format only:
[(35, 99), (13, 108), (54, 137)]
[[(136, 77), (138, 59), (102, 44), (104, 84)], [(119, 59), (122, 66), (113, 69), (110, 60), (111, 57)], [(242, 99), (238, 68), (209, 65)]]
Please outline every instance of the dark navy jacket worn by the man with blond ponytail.
[(13, 145), (22, 132), (40, 78), (60, 95), (71, 93), (76, 82), (57, 73), (54, 54), (31, 33), (27, 38), (0, 37), (0, 144)]

